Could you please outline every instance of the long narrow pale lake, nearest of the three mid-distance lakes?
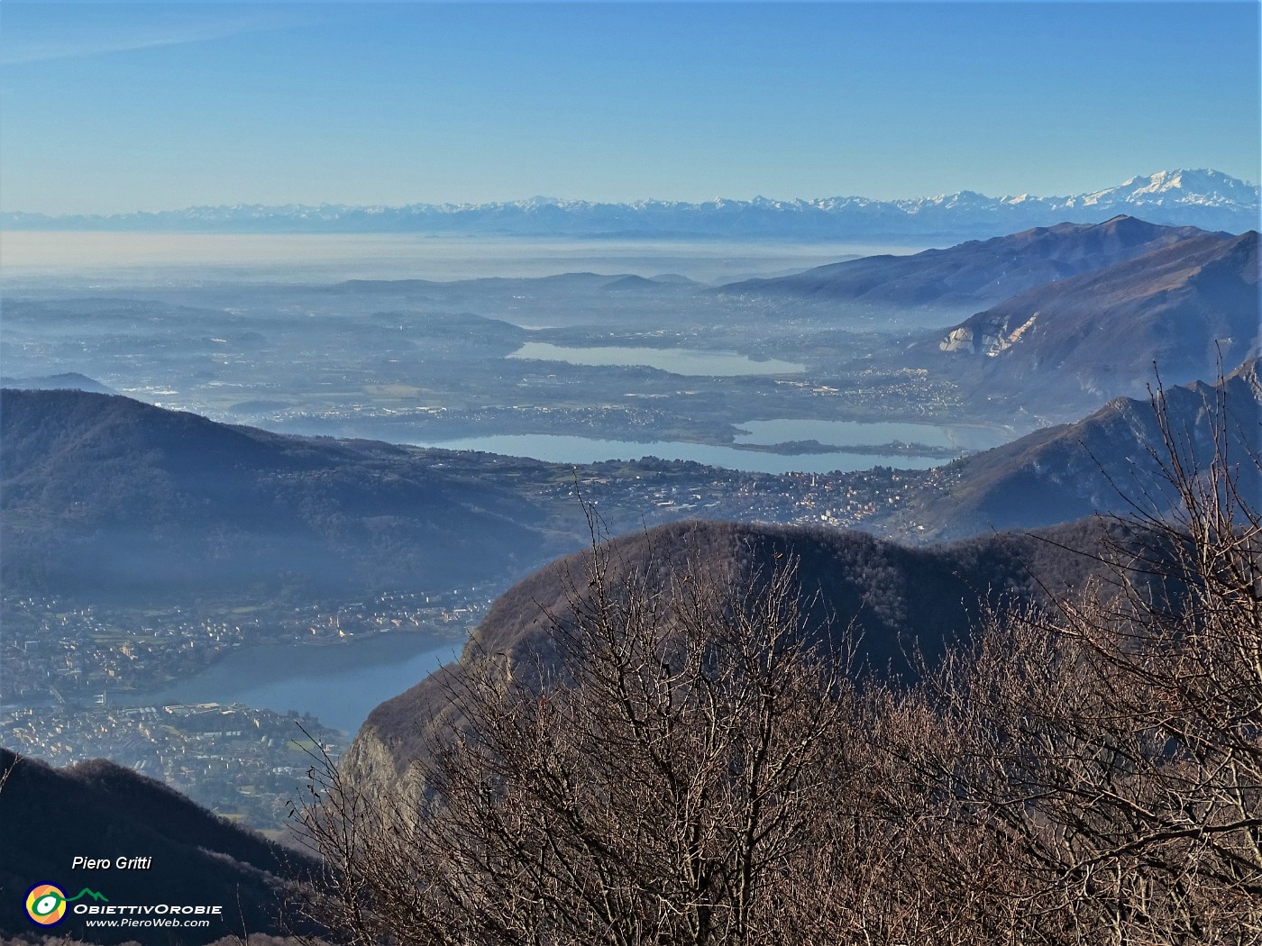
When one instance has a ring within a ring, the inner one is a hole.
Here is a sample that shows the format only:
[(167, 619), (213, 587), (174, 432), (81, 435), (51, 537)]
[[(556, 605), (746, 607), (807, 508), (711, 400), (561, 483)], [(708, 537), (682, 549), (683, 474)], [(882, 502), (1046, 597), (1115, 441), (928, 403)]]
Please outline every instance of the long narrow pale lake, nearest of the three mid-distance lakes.
[(830, 473), (897, 467), (928, 469), (946, 460), (933, 457), (883, 455), (870, 453), (805, 453), (787, 455), (734, 447), (692, 444), (679, 440), (636, 443), (631, 440), (596, 440), (567, 434), (501, 434), (466, 436), (458, 440), (413, 441), (416, 447), (440, 447), (445, 450), (481, 450), (506, 457), (531, 457), (548, 463), (599, 463), (601, 460), (637, 460), (658, 457), (664, 460), (694, 460), (711, 467), (726, 467), (746, 473)]

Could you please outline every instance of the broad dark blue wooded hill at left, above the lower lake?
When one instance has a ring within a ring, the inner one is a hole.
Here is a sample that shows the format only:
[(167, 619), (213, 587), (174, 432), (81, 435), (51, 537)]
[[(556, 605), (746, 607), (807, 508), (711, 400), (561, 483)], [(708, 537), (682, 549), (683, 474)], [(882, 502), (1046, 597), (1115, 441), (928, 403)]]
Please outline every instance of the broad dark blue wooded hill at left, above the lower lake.
[(361, 595), (468, 585), (573, 547), (507, 486), (444, 470), (443, 452), (81, 391), (0, 399), (10, 593)]

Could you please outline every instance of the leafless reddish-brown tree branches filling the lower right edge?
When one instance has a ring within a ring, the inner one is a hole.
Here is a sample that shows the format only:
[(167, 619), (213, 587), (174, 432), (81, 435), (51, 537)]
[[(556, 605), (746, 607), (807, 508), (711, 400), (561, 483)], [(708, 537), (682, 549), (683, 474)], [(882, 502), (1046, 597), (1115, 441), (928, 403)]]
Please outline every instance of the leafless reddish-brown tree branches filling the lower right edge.
[(1103, 578), (991, 610), (904, 699), (921, 738), (887, 740), (936, 805), (938, 898), (981, 904), (979, 941), (1262, 941), (1257, 458), (1232, 462), (1224, 400), (1204, 468), (1160, 388), (1153, 409), (1165, 491)]

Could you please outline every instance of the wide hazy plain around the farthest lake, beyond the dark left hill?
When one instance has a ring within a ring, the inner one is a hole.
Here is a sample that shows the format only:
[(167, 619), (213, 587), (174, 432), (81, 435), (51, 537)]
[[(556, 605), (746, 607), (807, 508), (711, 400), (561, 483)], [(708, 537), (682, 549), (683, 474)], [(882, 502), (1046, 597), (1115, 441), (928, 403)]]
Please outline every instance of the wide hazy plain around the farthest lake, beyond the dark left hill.
[[(1013, 435), (899, 366), (909, 333), (959, 313), (714, 289), (916, 248), (5, 232), (0, 357), (8, 378), (78, 372), (281, 433), (564, 463), (925, 468)], [(747, 421), (764, 424), (757, 436)], [(933, 429), (978, 423), (981, 439)]]

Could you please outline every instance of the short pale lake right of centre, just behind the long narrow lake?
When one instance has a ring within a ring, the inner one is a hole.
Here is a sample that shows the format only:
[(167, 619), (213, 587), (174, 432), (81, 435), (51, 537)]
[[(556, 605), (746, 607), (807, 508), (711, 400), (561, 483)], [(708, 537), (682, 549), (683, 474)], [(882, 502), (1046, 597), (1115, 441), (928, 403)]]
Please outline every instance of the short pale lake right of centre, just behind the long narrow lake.
[(989, 450), (1012, 440), (1016, 434), (997, 426), (914, 424), (864, 420), (747, 420), (736, 426), (748, 430), (736, 438), (738, 444), (782, 444), (818, 440), (833, 447), (876, 444), (923, 444), (955, 450)]

